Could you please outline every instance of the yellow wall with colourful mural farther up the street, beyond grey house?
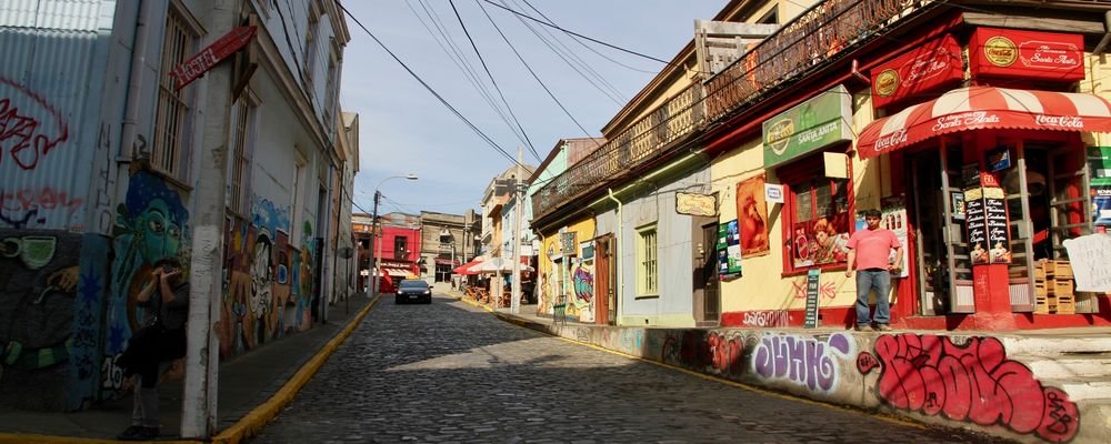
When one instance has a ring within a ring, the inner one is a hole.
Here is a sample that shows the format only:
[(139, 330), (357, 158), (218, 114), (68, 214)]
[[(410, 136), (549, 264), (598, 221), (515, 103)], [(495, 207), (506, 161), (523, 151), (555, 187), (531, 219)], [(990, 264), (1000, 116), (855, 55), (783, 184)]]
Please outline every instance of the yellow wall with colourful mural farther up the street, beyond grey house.
[(568, 316), (578, 319), (581, 322), (594, 321), (594, 302), (598, 300), (597, 292), (594, 292), (595, 297), (593, 297), (589, 303), (584, 300), (578, 299), (574, 293), (571, 276), (572, 272), (579, 268), (590, 275), (594, 274), (593, 261), (579, 260), (581, 254), (581, 251), (579, 251), (579, 244), (594, 239), (594, 236), (597, 236), (594, 231), (595, 224), (593, 218), (581, 219), (567, 225), (568, 233), (575, 233), (575, 252), (574, 254), (564, 253), (562, 266), (560, 268), (557, 268), (557, 263), (551, 260), (552, 253), (559, 252), (560, 250), (559, 233), (552, 232), (544, 234), (544, 240), (541, 246), (542, 251), (540, 252), (539, 260), (540, 295), (539, 303), (537, 305), (537, 311), (539, 313), (552, 313), (552, 302), (554, 301), (553, 296), (559, 293), (560, 280), (562, 280), (562, 293), (568, 296)]

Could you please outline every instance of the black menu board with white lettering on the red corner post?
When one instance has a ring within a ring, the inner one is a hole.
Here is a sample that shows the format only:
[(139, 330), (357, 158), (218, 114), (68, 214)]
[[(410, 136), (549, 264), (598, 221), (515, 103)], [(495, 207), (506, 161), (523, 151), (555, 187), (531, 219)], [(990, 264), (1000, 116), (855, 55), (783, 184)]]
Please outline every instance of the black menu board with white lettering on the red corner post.
[(1003, 189), (964, 190), (964, 223), (973, 265), (1011, 263), (1011, 230)]

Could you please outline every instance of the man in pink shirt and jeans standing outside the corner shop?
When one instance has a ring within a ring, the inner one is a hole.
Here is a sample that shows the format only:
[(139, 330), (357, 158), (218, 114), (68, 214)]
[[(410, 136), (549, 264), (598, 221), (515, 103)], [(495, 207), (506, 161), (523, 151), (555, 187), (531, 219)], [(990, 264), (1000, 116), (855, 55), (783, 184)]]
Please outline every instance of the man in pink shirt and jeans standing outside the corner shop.
[[(844, 276), (852, 276), (857, 270), (857, 331), (871, 326), (875, 321), (875, 331), (890, 331), (891, 306), (888, 293), (891, 291), (891, 273), (902, 270), (902, 244), (891, 230), (880, 228), (879, 210), (865, 210), (864, 223), (867, 230), (858, 230), (849, 238), (849, 268)], [(894, 251), (894, 264), (889, 258)], [(875, 290), (875, 316), (870, 317), (868, 295)]]

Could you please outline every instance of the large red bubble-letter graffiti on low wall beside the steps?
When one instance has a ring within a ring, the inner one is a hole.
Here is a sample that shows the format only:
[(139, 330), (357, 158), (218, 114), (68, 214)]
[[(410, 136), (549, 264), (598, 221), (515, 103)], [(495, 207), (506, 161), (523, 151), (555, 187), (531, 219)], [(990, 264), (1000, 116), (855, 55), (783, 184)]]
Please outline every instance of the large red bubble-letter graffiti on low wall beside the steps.
[(879, 396), (895, 408), (1002, 425), (1050, 442), (1071, 440), (1080, 426), (1077, 404), (1007, 359), (994, 337), (958, 344), (948, 336), (883, 335), (875, 356), (861, 353), (857, 366), (863, 374), (879, 369)]

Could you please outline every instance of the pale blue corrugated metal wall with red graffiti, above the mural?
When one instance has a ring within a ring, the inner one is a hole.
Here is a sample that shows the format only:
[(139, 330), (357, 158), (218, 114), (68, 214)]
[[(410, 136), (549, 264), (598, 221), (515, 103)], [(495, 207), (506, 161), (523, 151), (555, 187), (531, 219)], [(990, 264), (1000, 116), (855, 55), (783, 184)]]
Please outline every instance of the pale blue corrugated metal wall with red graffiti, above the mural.
[(114, 3), (0, 2), (0, 228), (86, 230), (97, 122), (82, 114)]

